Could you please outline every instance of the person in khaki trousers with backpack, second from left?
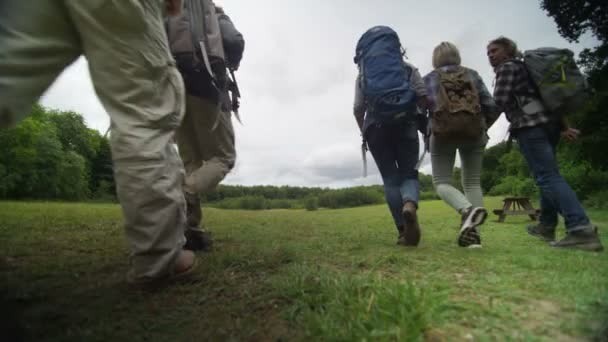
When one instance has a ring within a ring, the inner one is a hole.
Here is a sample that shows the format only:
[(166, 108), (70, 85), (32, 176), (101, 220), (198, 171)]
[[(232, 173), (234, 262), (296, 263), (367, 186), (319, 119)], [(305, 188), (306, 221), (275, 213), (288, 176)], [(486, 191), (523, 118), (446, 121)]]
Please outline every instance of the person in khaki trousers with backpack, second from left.
[[(192, 18), (202, 21), (193, 23)], [(186, 87), (186, 114), (176, 132), (186, 169), (188, 227), (184, 248), (209, 250), (211, 235), (200, 227), (200, 195), (215, 189), (235, 164), (231, 112), (238, 113), (235, 100), (239, 94), (227, 70), (233, 73), (238, 69), (245, 41), (224, 10), (211, 0), (186, 0), (183, 14), (170, 18), (167, 28), (169, 45)], [(206, 44), (194, 46), (192, 37)]]

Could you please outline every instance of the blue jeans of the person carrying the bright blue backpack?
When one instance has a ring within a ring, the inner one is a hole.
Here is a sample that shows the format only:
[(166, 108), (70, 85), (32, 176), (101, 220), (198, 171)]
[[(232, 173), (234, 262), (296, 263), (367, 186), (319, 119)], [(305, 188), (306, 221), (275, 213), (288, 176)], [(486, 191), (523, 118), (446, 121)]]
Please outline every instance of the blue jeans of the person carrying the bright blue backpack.
[(403, 226), (401, 209), (405, 202), (418, 206), (418, 131), (416, 124), (374, 124), (365, 131), (369, 150), (376, 161), (384, 196), (397, 227)]

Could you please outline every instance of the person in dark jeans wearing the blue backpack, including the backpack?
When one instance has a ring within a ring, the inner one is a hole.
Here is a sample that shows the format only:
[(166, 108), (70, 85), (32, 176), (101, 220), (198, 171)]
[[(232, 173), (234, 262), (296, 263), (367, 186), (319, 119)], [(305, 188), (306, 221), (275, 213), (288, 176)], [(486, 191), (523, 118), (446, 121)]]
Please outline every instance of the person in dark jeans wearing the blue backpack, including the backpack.
[(380, 170), (384, 194), (398, 231), (397, 244), (417, 246), (420, 226), (416, 104), (426, 105), (418, 70), (404, 60), (395, 31), (375, 26), (357, 43), (354, 115)]

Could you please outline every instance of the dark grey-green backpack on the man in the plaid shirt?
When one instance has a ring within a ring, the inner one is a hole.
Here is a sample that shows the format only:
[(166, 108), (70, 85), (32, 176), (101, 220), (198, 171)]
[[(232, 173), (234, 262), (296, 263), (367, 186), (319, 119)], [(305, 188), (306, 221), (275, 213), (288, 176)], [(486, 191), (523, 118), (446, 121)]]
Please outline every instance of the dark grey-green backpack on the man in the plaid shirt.
[(524, 52), (524, 64), (549, 112), (565, 115), (580, 109), (589, 86), (568, 49), (539, 48)]

